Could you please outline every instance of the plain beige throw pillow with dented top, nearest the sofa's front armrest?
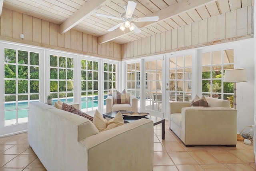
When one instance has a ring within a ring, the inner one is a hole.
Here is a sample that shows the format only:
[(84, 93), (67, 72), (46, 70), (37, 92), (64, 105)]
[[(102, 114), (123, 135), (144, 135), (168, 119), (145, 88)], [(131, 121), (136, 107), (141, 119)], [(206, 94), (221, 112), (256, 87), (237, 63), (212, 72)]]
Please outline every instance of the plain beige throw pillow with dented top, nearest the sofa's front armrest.
[(100, 112), (96, 110), (92, 122), (100, 132), (124, 125), (124, 119), (120, 111), (116, 114), (116, 117), (114, 117), (113, 119), (106, 120), (102, 117)]

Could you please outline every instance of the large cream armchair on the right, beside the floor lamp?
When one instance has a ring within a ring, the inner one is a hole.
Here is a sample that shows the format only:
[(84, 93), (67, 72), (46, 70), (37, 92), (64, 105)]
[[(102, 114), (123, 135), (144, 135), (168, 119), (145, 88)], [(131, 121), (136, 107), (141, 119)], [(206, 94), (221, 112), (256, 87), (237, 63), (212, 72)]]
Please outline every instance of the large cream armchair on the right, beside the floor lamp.
[(205, 97), (208, 107), (191, 107), (191, 102), (171, 101), (169, 128), (186, 147), (227, 145), (236, 147), (237, 111), (228, 100)]

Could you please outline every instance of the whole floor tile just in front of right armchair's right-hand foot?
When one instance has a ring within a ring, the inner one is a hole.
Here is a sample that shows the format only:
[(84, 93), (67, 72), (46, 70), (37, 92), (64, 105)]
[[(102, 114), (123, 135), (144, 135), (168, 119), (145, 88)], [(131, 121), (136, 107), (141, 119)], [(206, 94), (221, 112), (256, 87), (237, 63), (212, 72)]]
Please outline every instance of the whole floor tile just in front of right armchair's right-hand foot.
[(242, 160), (238, 159), (228, 151), (209, 151), (209, 153), (221, 163), (244, 163)]

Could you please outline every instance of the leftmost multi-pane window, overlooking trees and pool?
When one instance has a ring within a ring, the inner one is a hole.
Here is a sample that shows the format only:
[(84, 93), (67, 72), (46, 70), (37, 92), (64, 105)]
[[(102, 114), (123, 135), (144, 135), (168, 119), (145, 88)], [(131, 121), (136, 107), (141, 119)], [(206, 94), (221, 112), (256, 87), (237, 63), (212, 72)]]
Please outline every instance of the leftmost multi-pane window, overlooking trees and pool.
[(4, 125), (28, 121), (28, 101), (39, 101), (39, 54), (4, 48)]

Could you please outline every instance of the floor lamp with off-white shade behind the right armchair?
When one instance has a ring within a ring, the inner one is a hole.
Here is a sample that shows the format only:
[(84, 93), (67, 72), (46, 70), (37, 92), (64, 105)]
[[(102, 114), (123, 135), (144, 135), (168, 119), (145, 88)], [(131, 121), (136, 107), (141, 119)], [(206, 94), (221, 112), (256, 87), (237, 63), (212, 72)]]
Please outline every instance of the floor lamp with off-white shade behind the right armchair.
[(223, 82), (234, 83), (234, 109), (236, 109), (236, 83), (247, 82), (246, 70), (244, 68), (225, 70)]

